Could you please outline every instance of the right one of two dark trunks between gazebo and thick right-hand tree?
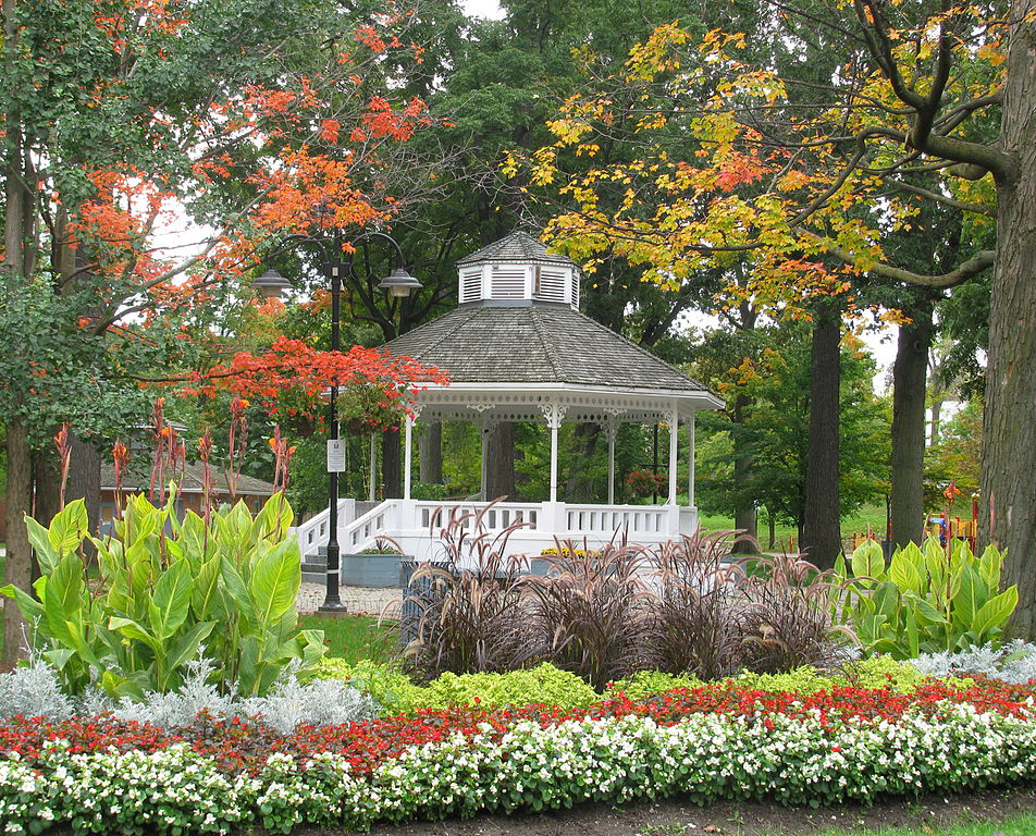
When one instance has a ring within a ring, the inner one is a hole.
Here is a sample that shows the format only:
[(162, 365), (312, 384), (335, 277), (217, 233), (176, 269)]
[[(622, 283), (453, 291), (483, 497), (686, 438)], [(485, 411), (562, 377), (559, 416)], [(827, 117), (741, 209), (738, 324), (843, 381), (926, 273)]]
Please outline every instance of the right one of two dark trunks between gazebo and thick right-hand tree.
[(911, 307), (892, 364), (892, 540), (921, 542), (924, 529), (925, 381), (932, 346), (930, 299)]

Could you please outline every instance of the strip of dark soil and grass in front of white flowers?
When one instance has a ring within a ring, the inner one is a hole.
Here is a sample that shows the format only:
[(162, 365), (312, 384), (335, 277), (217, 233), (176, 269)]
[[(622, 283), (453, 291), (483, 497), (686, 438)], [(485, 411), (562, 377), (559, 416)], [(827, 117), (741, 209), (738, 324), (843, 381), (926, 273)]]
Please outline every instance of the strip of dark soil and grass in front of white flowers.
[[(998, 822), (1023, 812), (1036, 813), (1036, 786), (990, 790), (967, 796), (891, 799), (872, 807), (841, 804), (787, 808), (779, 804), (720, 803), (705, 808), (680, 801), (629, 804), (621, 809), (585, 804), (558, 813), (482, 816), (467, 822), (422, 822), (400, 827), (378, 826), (373, 836), (809, 836), (830, 829), (887, 827), (920, 833), (958, 822)], [(296, 831), (331, 836), (341, 831)]]

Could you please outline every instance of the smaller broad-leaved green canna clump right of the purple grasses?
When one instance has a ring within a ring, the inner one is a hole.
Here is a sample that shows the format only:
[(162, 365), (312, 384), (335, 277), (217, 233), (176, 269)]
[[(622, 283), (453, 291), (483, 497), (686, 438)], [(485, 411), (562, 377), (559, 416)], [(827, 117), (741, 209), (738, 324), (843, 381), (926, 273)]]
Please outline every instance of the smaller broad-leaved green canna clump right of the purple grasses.
[(998, 591), (1003, 554), (989, 546), (975, 556), (963, 540), (950, 551), (929, 538), (897, 549), (886, 566), (881, 546), (864, 542), (836, 565), (844, 586), (837, 618), (868, 653), (896, 659), (999, 641), (1017, 606), (1017, 587)]

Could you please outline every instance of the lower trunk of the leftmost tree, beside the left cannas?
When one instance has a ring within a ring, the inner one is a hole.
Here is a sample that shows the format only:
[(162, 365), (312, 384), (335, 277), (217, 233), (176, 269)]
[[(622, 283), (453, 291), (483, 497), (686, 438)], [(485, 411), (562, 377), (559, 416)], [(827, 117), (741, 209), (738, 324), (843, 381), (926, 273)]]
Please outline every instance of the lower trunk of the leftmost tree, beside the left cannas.
[[(29, 511), (33, 492), (32, 452), (28, 432), (21, 421), (7, 426), (8, 496), (7, 496), (7, 564), (5, 582), (27, 590), (33, 575), (33, 550), (28, 543), (25, 515)], [(3, 664), (9, 665), (25, 655), (23, 635), (25, 620), (14, 601), (3, 599)]]

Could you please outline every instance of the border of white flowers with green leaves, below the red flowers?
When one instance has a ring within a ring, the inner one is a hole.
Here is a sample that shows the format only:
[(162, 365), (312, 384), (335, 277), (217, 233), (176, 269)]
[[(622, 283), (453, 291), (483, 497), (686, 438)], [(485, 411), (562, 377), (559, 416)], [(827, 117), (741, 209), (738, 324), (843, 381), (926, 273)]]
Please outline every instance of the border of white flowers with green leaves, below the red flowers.
[[(939, 703), (896, 722), (760, 720), (695, 714), (673, 725), (650, 718), (516, 724), (493, 741), (455, 734), (411, 747), (369, 775), (337, 754), (303, 764), (271, 755), (256, 776), (226, 776), (185, 745), (148, 754), (70, 754), (48, 747), (34, 766), (0, 761), (3, 833), (51, 825), (75, 833), (225, 834), (260, 825), (365, 829), (378, 821), (441, 819), (582, 801), (622, 803), (680, 795), (785, 803), (867, 800), (883, 794), (958, 791), (1036, 777), (1036, 710), (1024, 716)], [(929, 712), (932, 708), (929, 708)]]

